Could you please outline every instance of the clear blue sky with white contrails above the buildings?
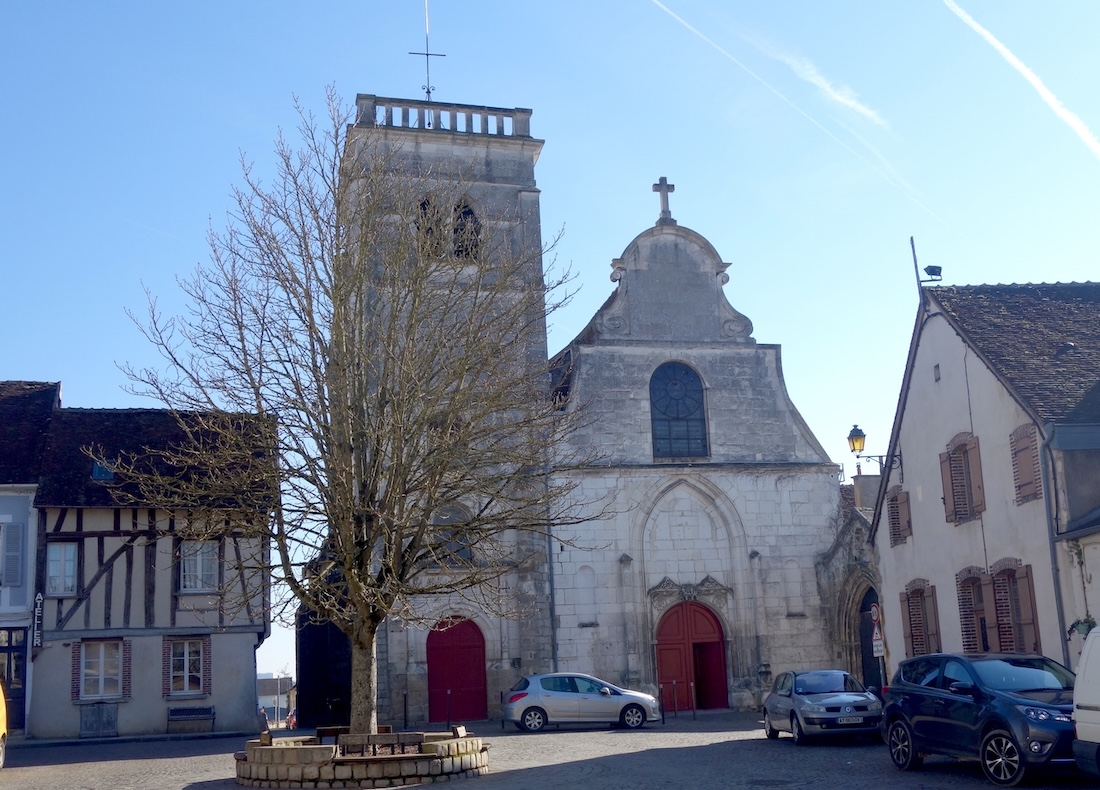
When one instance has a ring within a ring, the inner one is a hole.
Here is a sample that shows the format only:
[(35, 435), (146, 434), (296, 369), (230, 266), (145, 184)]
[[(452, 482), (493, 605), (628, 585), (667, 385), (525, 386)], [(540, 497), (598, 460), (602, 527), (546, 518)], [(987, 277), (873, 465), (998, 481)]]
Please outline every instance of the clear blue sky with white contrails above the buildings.
[[(152, 405), (125, 315), (207, 259), (239, 158), (271, 168), (293, 97), (419, 98), (421, 0), (7, 3), (0, 376), (66, 406)], [(726, 294), (780, 343), (794, 404), (850, 474), (883, 452), (920, 265), (944, 283), (1097, 278), (1100, 3), (1015, 0), (432, 0), (433, 98), (527, 107), (543, 237), (580, 293), (550, 351), (610, 293), (659, 213), (732, 263)], [(873, 465), (873, 464), (871, 464)], [(866, 465), (865, 465), (866, 471)], [(261, 671), (294, 670), (280, 634)]]

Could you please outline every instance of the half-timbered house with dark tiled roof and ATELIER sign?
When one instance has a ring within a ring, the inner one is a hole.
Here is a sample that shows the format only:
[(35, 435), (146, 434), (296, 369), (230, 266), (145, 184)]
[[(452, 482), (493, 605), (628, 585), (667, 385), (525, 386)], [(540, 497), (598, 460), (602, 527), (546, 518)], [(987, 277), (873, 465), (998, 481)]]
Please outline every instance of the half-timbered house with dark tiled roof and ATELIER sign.
[(265, 542), (119, 504), (92, 460), (178, 442), (157, 409), (55, 407), (35, 462), (29, 737), (254, 731), (268, 633)]

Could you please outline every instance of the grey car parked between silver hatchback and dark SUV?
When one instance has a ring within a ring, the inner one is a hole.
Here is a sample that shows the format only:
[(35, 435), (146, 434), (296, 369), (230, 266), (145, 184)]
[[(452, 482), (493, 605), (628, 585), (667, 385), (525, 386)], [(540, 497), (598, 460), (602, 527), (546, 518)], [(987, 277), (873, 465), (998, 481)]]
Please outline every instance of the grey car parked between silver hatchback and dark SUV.
[(839, 669), (781, 672), (763, 701), (763, 732), (778, 738), (789, 732), (795, 744), (812, 735), (873, 735), (882, 702)]

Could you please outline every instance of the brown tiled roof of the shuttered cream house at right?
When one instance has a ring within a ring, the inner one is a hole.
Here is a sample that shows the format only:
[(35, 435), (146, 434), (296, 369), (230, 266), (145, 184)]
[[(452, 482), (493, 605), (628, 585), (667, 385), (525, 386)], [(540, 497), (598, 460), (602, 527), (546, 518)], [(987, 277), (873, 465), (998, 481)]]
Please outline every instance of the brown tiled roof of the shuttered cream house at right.
[(1100, 283), (927, 288), (1046, 423), (1100, 423)]

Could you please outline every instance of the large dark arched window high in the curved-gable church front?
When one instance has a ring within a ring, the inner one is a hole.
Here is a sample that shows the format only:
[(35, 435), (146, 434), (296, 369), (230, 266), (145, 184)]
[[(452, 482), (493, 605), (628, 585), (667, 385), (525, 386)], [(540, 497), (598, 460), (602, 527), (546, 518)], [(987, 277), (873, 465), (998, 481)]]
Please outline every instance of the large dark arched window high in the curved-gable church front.
[(666, 362), (649, 380), (654, 458), (705, 458), (706, 404), (698, 374)]

